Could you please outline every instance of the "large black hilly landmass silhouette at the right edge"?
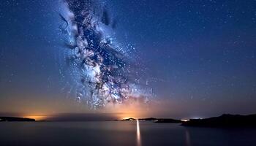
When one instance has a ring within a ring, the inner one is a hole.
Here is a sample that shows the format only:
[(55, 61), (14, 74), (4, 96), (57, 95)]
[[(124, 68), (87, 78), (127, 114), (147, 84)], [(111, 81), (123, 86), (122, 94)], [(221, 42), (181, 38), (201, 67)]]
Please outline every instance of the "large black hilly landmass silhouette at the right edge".
[(255, 115), (230, 115), (224, 114), (219, 117), (205, 119), (190, 119), (183, 121), (182, 126), (201, 127), (256, 127)]

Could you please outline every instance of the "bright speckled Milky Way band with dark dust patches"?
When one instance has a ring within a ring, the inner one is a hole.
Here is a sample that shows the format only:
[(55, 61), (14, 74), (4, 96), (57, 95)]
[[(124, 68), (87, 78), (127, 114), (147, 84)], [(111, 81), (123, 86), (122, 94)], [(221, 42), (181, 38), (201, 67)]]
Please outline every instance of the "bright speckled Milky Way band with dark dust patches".
[(147, 102), (151, 89), (140, 85), (138, 66), (130, 61), (135, 47), (120, 45), (111, 36), (116, 22), (105, 4), (97, 2), (67, 0), (68, 10), (60, 14), (61, 31), (68, 34), (65, 47), (71, 51), (69, 60), (76, 72), (71, 75), (79, 76), (76, 99), (93, 109), (129, 99)]

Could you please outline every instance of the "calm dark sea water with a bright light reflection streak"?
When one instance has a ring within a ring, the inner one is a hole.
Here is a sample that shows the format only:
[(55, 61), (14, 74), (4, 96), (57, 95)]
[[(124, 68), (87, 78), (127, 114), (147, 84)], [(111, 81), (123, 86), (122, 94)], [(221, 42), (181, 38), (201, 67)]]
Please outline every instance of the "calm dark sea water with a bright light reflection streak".
[(0, 145), (256, 145), (256, 128), (137, 121), (0, 123)]

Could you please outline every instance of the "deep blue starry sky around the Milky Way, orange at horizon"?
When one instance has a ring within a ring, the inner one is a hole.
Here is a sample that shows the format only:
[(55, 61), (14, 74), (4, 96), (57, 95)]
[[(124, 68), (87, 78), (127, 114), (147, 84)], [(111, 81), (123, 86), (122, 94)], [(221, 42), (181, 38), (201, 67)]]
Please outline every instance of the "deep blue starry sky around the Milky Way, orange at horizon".
[(0, 4), (2, 114), (128, 111), (201, 118), (256, 112), (256, 1), (97, 3), (107, 9), (118, 45), (135, 47), (129, 60), (140, 63), (135, 72), (152, 91), (149, 103), (100, 110), (78, 103), (74, 68), (67, 63), (70, 50), (60, 31), (63, 1), (10, 0)]

